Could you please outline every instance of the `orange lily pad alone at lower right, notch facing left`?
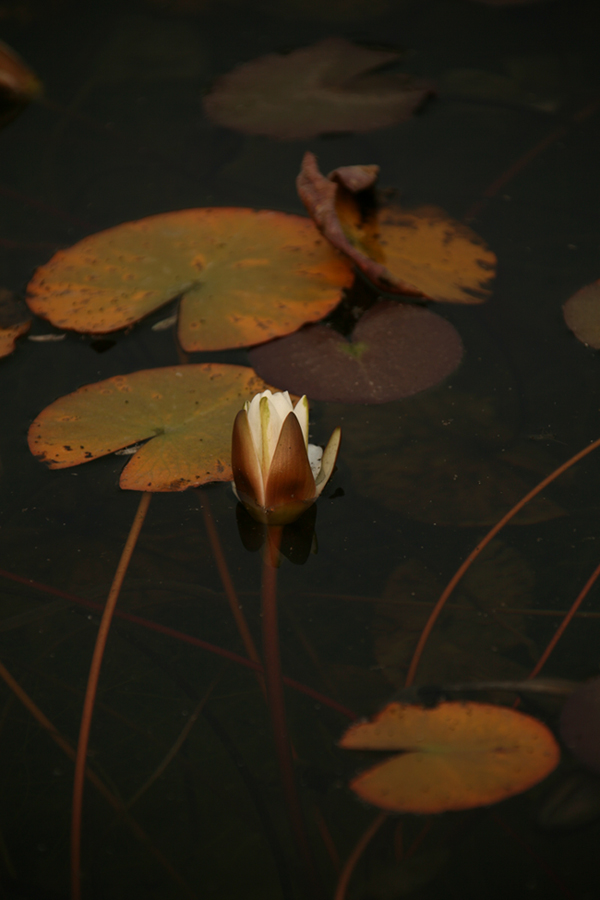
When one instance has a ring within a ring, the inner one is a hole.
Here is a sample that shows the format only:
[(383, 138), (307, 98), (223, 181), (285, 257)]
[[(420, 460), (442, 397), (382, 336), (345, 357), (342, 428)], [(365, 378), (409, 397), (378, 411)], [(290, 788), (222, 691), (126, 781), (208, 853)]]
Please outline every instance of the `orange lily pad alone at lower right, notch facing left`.
[(422, 814), (498, 803), (537, 784), (560, 758), (542, 722), (485, 703), (390, 703), (371, 722), (352, 725), (340, 746), (402, 751), (350, 786), (375, 806)]

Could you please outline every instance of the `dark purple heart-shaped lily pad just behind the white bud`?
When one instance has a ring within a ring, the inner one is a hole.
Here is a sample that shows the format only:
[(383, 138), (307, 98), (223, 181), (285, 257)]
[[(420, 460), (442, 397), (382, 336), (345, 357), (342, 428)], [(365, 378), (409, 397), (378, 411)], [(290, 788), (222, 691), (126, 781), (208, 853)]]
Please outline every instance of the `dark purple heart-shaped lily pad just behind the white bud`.
[(462, 356), (458, 332), (414, 304), (383, 300), (358, 321), (351, 339), (326, 325), (250, 351), (266, 381), (312, 400), (387, 403), (439, 384)]

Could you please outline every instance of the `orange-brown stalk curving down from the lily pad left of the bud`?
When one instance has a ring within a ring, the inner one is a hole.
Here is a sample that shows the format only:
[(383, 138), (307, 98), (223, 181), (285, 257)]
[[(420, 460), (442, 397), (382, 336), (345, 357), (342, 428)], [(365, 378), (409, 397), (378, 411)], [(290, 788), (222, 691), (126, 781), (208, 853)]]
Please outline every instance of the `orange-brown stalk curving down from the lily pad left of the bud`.
[(71, 814), (71, 897), (72, 900), (80, 900), (81, 898), (81, 812), (83, 808), (83, 785), (85, 780), (85, 768), (87, 759), (87, 750), (90, 737), (90, 728), (92, 724), (92, 716), (94, 712), (94, 701), (96, 699), (96, 691), (98, 689), (98, 679), (100, 677), (100, 668), (102, 666), (102, 657), (104, 656), (104, 648), (108, 638), (108, 632), (112, 621), (115, 606), (119, 599), (121, 586), (127, 572), (127, 567), (131, 560), (137, 539), (152, 494), (144, 492), (141, 496), (137, 512), (129, 531), (129, 536), (125, 542), (117, 571), (109, 591), (106, 606), (100, 620), (100, 627), (96, 637), (96, 645), (92, 655), (92, 663), (90, 665), (90, 673), (83, 701), (83, 710), (81, 713), (81, 725), (79, 728), (79, 740), (77, 742), (77, 754), (75, 757), (75, 774), (73, 777), (73, 808)]

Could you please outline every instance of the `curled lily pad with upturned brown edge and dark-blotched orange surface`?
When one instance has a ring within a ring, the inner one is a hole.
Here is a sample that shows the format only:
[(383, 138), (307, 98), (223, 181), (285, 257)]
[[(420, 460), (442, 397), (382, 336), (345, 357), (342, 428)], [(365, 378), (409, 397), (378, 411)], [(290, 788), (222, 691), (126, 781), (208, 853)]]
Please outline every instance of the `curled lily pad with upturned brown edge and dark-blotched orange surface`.
[(383, 206), (363, 219), (339, 171), (325, 178), (307, 152), (298, 193), (319, 230), (373, 284), (450, 303), (486, 299), (496, 257), (470, 228), (435, 207)]

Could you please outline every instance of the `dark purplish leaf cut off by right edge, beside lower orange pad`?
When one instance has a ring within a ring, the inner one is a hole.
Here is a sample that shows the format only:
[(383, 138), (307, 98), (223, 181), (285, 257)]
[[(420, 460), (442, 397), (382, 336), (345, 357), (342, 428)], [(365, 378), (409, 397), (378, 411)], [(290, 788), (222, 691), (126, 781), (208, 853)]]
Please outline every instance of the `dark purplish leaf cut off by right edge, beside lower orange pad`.
[(600, 773), (600, 678), (591, 678), (567, 698), (560, 735), (584, 766)]

